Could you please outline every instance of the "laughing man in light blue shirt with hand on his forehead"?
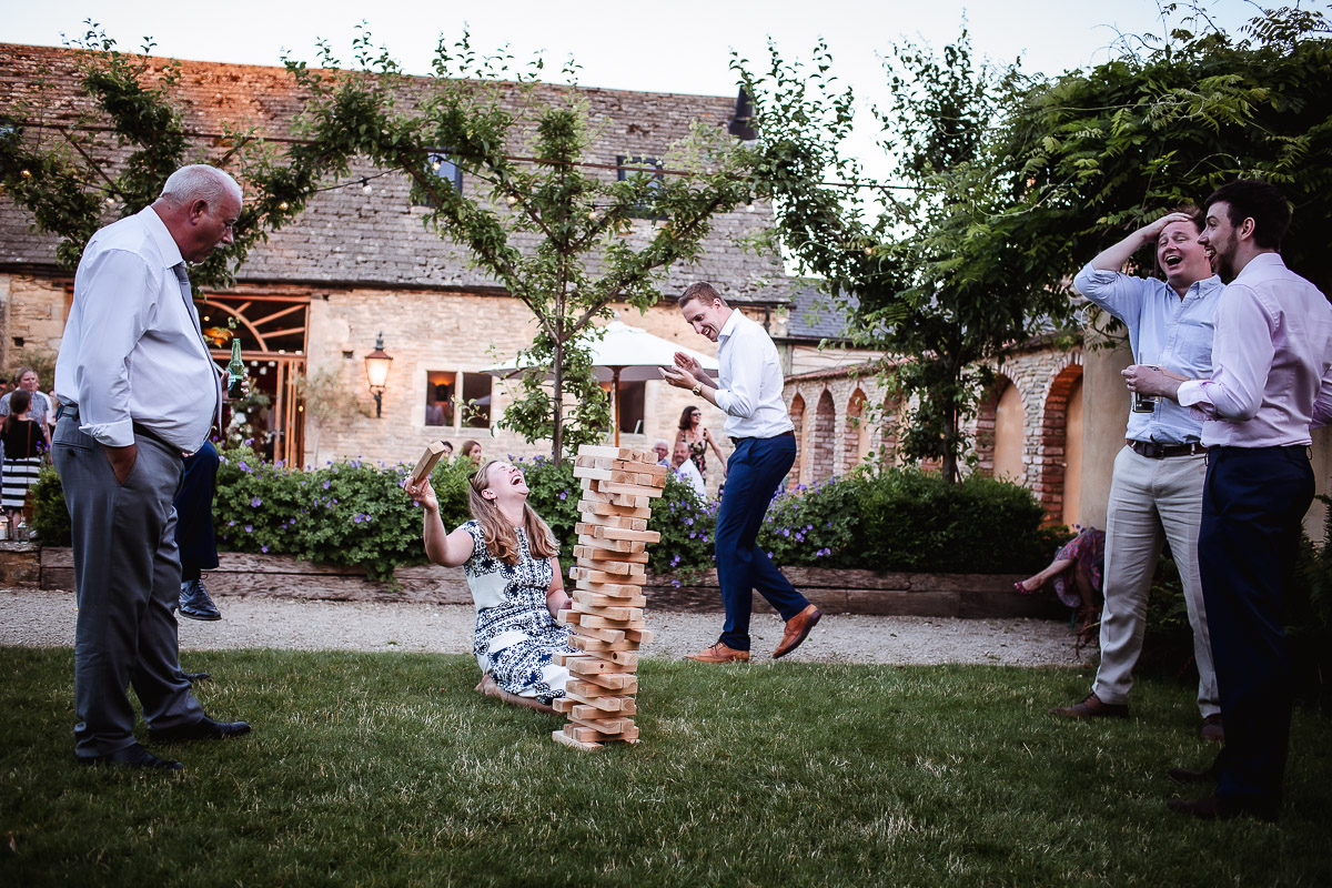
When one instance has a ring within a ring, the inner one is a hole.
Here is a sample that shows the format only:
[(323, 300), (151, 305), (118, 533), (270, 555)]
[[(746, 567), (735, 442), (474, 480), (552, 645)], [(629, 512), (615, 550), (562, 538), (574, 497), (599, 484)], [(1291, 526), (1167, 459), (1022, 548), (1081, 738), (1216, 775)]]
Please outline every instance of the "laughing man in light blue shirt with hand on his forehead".
[[(1074, 278), (1079, 293), (1128, 328), (1135, 363), (1158, 365), (1188, 377), (1211, 373), (1213, 318), (1225, 288), (1212, 274), (1207, 253), (1197, 242), (1200, 230), (1195, 216), (1168, 213), (1103, 250)], [(1164, 281), (1119, 273), (1147, 245), (1156, 246)], [(1084, 700), (1050, 710), (1051, 715), (1079, 719), (1128, 715), (1132, 671), (1147, 627), (1147, 594), (1162, 546), (1169, 541), (1193, 628), (1201, 736), (1224, 739), (1197, 570), (1197, 529), (1207, 473), (1201, 426), (1191, 410), (1173, 401), (1135, 399), (1128, 414), (1128, 439), (1115, 458), (1106, 509), (1106, 604), (1096, 682)]]

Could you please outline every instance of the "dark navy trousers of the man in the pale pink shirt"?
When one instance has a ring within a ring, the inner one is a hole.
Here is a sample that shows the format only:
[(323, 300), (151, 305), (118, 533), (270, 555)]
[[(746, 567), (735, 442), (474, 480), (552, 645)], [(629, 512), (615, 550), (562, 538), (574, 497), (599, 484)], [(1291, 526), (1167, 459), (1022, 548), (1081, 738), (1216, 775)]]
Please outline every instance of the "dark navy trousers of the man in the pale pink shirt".
[(1312, 501), (1301, 446), (1208, 455), (1197, 560), (1225, 724), (1216, 793), (1273, 817), (1291, 738), (1285, 590)]

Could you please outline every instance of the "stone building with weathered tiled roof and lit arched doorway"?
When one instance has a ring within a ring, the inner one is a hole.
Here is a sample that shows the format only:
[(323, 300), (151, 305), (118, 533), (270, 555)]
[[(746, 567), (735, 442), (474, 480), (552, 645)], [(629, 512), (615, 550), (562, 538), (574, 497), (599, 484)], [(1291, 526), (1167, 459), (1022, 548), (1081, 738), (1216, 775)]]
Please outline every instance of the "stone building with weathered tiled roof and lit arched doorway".
[[(149, 61), (157, 72), (168, 63)], [(44, 122), (68, 124), (91, 108), (76, 81), (73, 51), (0, 44), (0, 114), (37, 80), (56, 87), (56, 100), (41, 109)], [(176, 92), (201, 152), (226, 126), (254, 126), (270, 138), (294, 134), (301, 96), (284, 68), (181, 61)], [(538, 85), (534, 95), (554, 103), (567, 92)], [(661, 157), (697, 122), (729, 126), (735, 112), (734, 97), (587, 88), (579, 93), (594, 133), (586, 160), (610, 166), (598, 172), (607, 177), (615, 177), (614, 166), (625, 158)], [(261, 419), (273, 457), (290, 463), (338, 457), (414, 461), (426, 442), (440, 438), (454, 445), (474, 438), (488, 454), (549, 450), (549, 443), (527, 445), (496, 427), (509, 393), (503, 382), (481, 373), (531, 343), (533, 318), (458, 248), (425, 229), (426, 210), (413, 205), (405, 176), (377, 173), (369, 165), (354, 168), (345, 186), (316, 196), (300, 218), (252, 250), (234, 289), (197, 301), (205, 333), (228, 318), (240, 324), (253, 381), (273, 399)], [(461, 182), (464, 190), (469, 186)], [(699, 261), (669, 269), (662, 302), (646, 316), (619, 306), (619, 320), (710, 354), (715, 346), (683, 324), (674, 304), (685, 286), (709, 280), (779, 332), (790, 282), (775, 256), (755, 256), (739, 245), (771, 221), (773, 209), (762, 202), (715, 217)], [(629, 242), (646, 242), (655, 224), (635, 220)], [(20, 350), (59, 349), (73, 276), (57, 266), (56, 242), (32, 230), (24, 210), (0, 200), (3, 366)], [(364, 358), (380, 334), (393, 365), (377, 418)], [(214, 355), (225, 362), (228, 353)], [(344, 393), (338, 403), (352, 403), (317, 418), (324, 411), (305, 403), (297, 385), (306, 375), (337, 381)], [(657, 382), (623, 383), (621, 395), (626, 443), (674, 439), (691, 402), (687, 393)], [(465, 411), (462, 402), (477, 409)], [(721, 413), (701, 406), (705, 423), (719, 434)]]

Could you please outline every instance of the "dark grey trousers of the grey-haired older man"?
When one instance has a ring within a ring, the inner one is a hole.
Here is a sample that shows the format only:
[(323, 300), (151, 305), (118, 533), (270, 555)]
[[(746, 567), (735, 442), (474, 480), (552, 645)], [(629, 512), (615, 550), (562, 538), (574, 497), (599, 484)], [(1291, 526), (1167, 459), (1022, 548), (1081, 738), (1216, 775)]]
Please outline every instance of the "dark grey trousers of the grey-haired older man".
[(139, 457), (125, 483), (79, 421), (61, 417), (52, 461), (73, 526), (75, 754), (109, 755), (135, 743), (128, 686), (152, 728), (204, 718), (180, 674), (173, 608), (180, 598), (176, 511), (178, 450), (136, 434)]

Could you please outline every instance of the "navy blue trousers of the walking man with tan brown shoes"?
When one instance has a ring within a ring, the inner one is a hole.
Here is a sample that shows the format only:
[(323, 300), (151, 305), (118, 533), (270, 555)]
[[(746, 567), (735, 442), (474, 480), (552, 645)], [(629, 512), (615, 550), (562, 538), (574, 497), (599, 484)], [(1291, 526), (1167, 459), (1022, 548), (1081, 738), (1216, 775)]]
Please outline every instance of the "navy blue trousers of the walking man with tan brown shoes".
[(717, 578), (726, 623), (721, 642), (737, 651), (750, 648), (753, 590), (758, 590), (789, 620), (809, 600), (782, 575), (755, 542), (778, 486), (795, 462), (795, 438), (742, 438), (726, 462), (726, 491), (717, 513)]

